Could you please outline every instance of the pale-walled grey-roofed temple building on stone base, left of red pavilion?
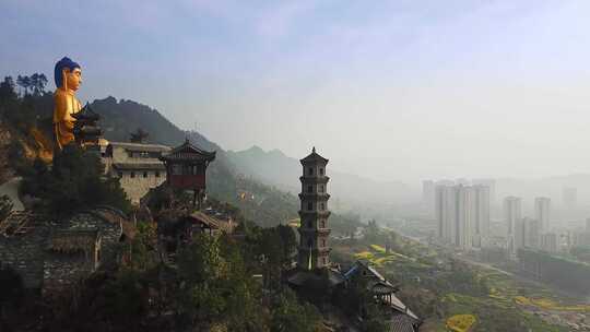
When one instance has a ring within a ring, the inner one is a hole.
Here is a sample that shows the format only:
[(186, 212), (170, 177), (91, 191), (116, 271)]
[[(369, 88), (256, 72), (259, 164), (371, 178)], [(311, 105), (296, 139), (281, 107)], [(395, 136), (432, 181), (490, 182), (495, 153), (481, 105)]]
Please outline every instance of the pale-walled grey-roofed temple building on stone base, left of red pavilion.
[(103, 162), (107, 175), (119, 178), (121, 188), (133, 204), (166, 180), (166, 167), (160, 157), (169, 146), (128, 142), (110, 142)]

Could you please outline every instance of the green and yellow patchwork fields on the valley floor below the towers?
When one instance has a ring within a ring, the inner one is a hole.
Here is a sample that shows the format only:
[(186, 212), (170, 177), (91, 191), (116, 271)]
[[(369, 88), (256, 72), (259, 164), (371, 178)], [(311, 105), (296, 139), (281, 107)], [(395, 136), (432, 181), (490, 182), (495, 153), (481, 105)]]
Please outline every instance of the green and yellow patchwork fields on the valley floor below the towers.
[[(486, 295), (442, 292), (436, 282), (441, 278), (433, 262), (442, 260), (436, 252), (417, 242), (398, 246), (403, 252), (386, 250), (376, 244), (335, 247), (351, 260), (362, 259), (374, 264), (388, 277), (403, 280), (404, 285), (436, 294), (434, 315), (426, 315), (425, 332), (492, 332), (517, 329), (534, 332), (570, 332), (585, 330), (590, 306), (559, 298), (548, 288), (522, 283), (510, 275), (481, 266), (472, 266), (476, 280), (485, 281)], [(424, 257), (429, 258), (425, 260)], [(408, 277), (410, 276), (410, 277)], [(429, 282), (429, 283), (428, 283)], [(412, 300), (411, 298), (409, 300)], [(416, 306), (416, 305), (414, 305)], [(504, 328), (503, 330), (503, 327)]]

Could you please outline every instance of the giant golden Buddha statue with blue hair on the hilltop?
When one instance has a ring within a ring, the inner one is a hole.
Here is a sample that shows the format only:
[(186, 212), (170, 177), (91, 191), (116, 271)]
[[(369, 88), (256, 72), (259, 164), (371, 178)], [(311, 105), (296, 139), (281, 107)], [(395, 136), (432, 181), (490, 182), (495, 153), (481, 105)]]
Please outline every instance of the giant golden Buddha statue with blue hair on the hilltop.
[(55, 80), (57, 88), (54, 94), (54, 132), (56, 147), (61, 150), (74, 142), (75, 118), (72, 115), (82, 108), (80, 100), (75, 97), (75, 92), (82, 83), (82, 69), (80, 64), (64, 57), (56, 63)]

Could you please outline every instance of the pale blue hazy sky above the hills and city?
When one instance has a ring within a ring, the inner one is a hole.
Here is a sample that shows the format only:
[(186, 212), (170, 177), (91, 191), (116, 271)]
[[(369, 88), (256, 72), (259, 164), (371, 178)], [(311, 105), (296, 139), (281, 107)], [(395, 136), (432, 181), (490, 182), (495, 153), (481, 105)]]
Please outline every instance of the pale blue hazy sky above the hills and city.
[(589, 17), (585, 0), (2, 0), (0, 75), (52, 82), (67, 55), (83, 102), (374, 178), (588, 173)]

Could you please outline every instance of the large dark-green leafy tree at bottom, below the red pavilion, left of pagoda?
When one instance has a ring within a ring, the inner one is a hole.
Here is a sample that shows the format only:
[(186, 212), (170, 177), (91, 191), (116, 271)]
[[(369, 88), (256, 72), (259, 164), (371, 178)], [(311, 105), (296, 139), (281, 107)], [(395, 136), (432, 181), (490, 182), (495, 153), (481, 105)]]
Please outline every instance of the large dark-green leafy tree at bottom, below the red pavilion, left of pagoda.
[(260, 331), (259, 292), (246, 269), (244, 252), (227, 238), (204, 234), (178, 254), (176, 312), (186, 325), (229, 331)]

